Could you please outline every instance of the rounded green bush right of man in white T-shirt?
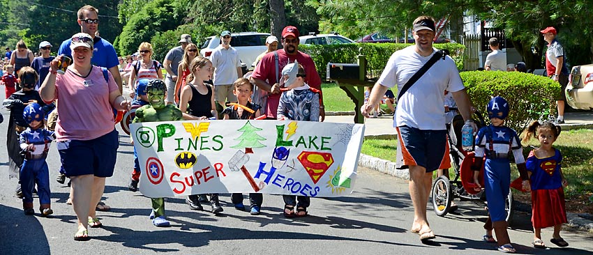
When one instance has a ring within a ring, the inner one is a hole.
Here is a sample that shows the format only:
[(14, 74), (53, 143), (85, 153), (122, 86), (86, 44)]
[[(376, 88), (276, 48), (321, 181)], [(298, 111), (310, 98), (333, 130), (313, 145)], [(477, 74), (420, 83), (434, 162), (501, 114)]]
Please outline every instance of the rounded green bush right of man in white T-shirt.
[[(486, 112), (492, 96), (500, 95), (506, 99), (511, 110), (505, 125), (517, 132), (522, 132), (533, 120), (553, 115), (555, 99), (561, 93), (557, 82), (529, 73), (469, 71), (460, 75), (474, 107), (482, 113)], [(486, 122), (490, 121), (486, 119)]]

